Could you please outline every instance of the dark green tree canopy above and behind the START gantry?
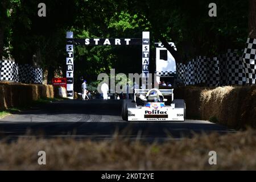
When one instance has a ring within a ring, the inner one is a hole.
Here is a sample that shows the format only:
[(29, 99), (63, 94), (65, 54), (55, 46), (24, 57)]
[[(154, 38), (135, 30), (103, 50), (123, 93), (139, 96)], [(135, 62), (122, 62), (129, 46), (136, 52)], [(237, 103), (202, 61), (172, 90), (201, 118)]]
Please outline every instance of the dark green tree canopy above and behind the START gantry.
[[(214, 1), (217, 17), (209, 17), (208, 0), (46, 0), (46, 17), (38, 16), (40, 2), (1, 1), (0, 56), (9, 51), (16, 62), (40, 65), (49, 73), (65, 70), (66, 31), (75, 38), (141, 38), (142, 31), (150, 31), (151, 52), (154, 42), (167, 47), (174, 42), (178, 62), (242, 49), (249, 34), (245, 0)], [(151, 65), (154, 70), (154, 53)], [(95, 80), (111, 68), (141, 73), (141, 47), (76, 47), (75, 79)]]

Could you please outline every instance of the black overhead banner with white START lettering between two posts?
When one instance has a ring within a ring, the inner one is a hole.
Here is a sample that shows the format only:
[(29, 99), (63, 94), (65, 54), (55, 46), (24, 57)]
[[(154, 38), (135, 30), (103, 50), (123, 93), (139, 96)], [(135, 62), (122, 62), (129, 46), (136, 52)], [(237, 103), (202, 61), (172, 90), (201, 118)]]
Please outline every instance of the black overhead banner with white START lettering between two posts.
[(67, 39), (78, 46), (130, 46), (141, 45), (142, 39)]

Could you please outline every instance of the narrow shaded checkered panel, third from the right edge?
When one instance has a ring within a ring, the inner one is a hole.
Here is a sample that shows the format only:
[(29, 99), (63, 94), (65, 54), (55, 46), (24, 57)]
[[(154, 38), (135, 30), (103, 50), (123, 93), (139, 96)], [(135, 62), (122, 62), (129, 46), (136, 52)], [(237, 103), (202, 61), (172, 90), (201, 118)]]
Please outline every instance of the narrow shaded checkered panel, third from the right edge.
[(220, 85), (220, 72), (219, 72), (219, 60), (217, 57), (208, 58), (207, 67), (207, 86), (219, 86)]

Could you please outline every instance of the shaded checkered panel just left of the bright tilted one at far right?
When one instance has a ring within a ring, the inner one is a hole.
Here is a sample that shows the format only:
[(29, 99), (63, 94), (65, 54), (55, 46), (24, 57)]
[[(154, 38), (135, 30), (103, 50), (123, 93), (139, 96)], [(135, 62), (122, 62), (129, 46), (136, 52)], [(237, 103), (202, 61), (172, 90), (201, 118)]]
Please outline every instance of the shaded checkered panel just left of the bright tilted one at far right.
[(246, 84), (245, 69), (241, 56), (238, 49), (228, 49), (226, 56), (226, 85)]

